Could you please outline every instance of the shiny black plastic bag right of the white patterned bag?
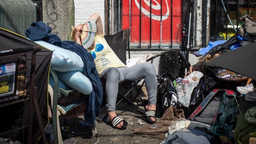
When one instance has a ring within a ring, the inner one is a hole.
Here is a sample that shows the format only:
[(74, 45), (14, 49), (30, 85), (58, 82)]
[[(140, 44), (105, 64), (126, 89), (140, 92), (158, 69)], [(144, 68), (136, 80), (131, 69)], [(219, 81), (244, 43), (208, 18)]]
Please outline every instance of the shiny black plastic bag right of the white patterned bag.
[(181, 108), (184, 110), (185, 118), (188, 118), (191, 115), (191, 113), (195, 111), (195, 109), (202, 103), (204, 97), (205, 97), (205, 94), (204, 94), (203, 80), (200, 80), (199, 84), (194, 88), (191, 94), (189, 107)]

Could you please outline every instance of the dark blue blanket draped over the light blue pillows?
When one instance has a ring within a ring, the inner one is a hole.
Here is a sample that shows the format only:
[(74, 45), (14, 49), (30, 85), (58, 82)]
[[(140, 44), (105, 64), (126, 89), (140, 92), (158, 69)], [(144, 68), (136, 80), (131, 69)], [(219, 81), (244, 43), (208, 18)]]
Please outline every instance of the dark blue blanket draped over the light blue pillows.
[[(63, 49), (77, 53), (83, 60), (84, 72), (83, 74), (90, 79), (93, 85), (93, 91), (86, 96), (86, 111), (84, 113), (84, 120), (86, 126), (95, 124), (95, 118), (99, 115), (98, 109), (102, 103), (102, 85), (95, 67), (93, 56), (73, 41), (61, 41), (57, 35), (51, 34), (52, 28), (46, 26), (44, 22), (33, 22), (25, 34), (31, 40), (42, 39), (45, 42), (59, 46)], [(71, 70), (72, 71), (72, 70)]]

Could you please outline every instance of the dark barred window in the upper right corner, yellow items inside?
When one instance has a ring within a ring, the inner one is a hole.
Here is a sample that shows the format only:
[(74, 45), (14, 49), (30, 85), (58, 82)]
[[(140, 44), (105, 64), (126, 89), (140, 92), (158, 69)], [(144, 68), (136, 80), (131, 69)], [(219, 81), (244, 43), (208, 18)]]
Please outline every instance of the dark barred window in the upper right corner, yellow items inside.
[(246, 14), (256, 19), (256, 0), (210, 1), (210, 41), (228, 40), (243, 24), (241, 18)]

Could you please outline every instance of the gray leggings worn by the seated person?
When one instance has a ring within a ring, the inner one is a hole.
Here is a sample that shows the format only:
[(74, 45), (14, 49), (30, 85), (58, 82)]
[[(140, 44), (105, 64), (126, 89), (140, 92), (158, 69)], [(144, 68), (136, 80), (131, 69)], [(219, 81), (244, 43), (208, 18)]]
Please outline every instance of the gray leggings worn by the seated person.
[(148, 93), (149, 104), (157, 103), (157, 78), (156, 70), (151, 63), (136, 64), (132, 67), (109, 67), (101, 75), (107, 80), (107, 110), (116, 110), (118, 83), (123, 80), (141, 80), (145, 79), (145, 87)]

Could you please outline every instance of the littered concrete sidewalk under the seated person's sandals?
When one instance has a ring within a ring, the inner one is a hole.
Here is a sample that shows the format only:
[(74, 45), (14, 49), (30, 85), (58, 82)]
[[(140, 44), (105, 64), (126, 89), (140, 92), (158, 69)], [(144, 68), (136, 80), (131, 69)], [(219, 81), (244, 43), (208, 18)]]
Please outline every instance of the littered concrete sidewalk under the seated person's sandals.
[[(102, 106), (100, 108), (100, 116), (103, 117), (106, 112), (106, 106)], [(147, 118), (141, 116), (134, 106), (127, 105), (127, 102), (122, 101), (117, 106), (116, 113), (127, 121), (127, 128), (125, 130), (117, 130), (110, 126), (110, 122), (96, 122), (96, 129), (99, 134), (99, 144), (153, 144), (162, 142), (160, 139), (148, 139), (132, 133), (132, 129), (141, 127), (137, 124), (138, 119), (142, 119), (142, 121), (146, 123), (145, 125), (150, 125), (148, 124)], [(82, 115), (79, 116), (77, 120), (83, 119), (84, 116)], [(60, 119), (60, 124), (64, 124), (63, 119)], [(75, 130), (74, 118), (67, 120), (67, 125), (70, 127), (70, 132), (61, 131), (63, 141), (65, 139), (76, 140), (79, 144), (93, 144), (97, 141), (96, 137), (91, 136), (91, 130), (89, 128), (79, 128), (79, 126), (77, 126), (77, 134), (72, 134), (71, 132)], [(77, 125), (79, 125), (79, 122), (77, 122)]]

